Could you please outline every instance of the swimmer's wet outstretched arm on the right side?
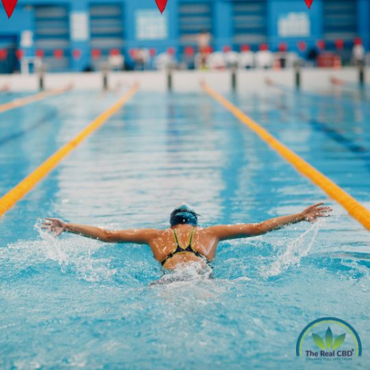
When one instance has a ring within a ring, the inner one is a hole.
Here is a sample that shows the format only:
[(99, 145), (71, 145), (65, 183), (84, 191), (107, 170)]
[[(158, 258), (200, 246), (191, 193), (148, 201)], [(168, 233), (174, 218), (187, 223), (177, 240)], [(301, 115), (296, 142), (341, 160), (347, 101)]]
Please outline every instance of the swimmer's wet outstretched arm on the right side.
[(290, 214), (288, 216), (275, 217), (260, 223), (243, 223), (240, 225), (218, 225), (208, 227), (208, 231), (219, 238), (219, 240), (247, 238), (249, 236), (257, 236), (266, 234), (273, 230), (281, 229), (286, 225), (298, 223), (301, 221), (314, 222), (319, 217), (328, 217), (332, 210), (330, 207), (320, 207), (323, 203), (314, 204), (306, 208), (301, 213)]

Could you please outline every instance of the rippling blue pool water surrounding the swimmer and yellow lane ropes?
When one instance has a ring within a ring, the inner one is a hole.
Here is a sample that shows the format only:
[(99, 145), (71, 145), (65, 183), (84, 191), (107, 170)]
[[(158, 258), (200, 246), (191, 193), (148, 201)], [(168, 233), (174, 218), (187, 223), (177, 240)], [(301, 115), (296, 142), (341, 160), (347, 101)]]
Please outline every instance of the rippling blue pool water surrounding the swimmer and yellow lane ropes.
[[(1, 114), (1, 194), (117, 98), (67, 93)], [(357, 94), (228, 98), (370, 208), (370, 112)], [(42, 217), (165, 228), (181, 201), (203, 226), (262, 221), (317, 201), (334, 212), (220, 243), (212, 279), (190, 270), (185, 282), (158, 286), (149, 284), (164, 271), (149, 247), (39, 229)], [(5, 214), (0, 235), (0, 369), (369, 364), (368, 232), (205, 94), (138, 93)], [(299, 333), (320, 317), (354, 326), (362, 358), (297, 358)]]

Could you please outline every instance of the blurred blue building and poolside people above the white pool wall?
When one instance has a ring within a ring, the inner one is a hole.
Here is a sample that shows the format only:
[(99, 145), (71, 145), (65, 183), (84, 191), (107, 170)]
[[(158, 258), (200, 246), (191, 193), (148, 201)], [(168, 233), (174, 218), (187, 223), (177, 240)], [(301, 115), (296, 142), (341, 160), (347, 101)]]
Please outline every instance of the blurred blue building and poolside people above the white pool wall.
[(370, 1), (19, 0), (0, 73), (370, 64)]

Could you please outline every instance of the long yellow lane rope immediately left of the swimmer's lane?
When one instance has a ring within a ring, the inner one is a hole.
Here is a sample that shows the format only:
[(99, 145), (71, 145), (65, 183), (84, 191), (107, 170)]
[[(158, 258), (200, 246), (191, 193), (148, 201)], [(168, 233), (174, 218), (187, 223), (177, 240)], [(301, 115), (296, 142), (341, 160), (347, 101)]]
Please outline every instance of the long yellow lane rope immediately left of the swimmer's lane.
[(138, 84), (135, 84), (130, 88), (130, 90), (116, 101), (114, 105), (103, 112), (100, 116), (97, 117), (90, 125), (84, 128), (82, 132), (77, 134), (75, 138), (73, 138), (69, 143), (66, 143), (63, 147), (58, 149), (56, 153), (53, 153), (45, 162), (40, 164), (40, 166), (33, 171), (30, 175), (25, 177), (18, 185), (14, 186), (11, 190), (8, 191), (3, 197), (0, 198), (0, 217), (3, 216), (5, 212), (7, 212), (17, 201), (19, 201), (22, 197), (24, 197), (29, 190), (31, 190), (43, 177), (45, 177), (56, 165), (79, 143), (81, 143), (87, 136), (93, 134), (95, 130), (97, 130), (103, 123), (118, 112), (122, 106), (130, 100), (138, 91)]

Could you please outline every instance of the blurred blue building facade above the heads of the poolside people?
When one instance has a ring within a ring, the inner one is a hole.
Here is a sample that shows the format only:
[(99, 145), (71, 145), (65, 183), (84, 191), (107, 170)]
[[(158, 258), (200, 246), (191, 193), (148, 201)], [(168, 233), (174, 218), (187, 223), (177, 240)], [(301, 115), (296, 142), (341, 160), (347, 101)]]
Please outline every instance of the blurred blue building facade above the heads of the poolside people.
[(0, 12), (0, 73), (35, 56), (51, 71), (83, 71), (112, 54), (130, 65), (137, 48), (181, 58), (202, 31), (214, 50), (350, 50), (356, 37), (369, 50), (370, 0), (314, 0), (311, 10), (304, 0), (169, 0), (162, 15), (155, 0), (19, 0), (12, 18)]

